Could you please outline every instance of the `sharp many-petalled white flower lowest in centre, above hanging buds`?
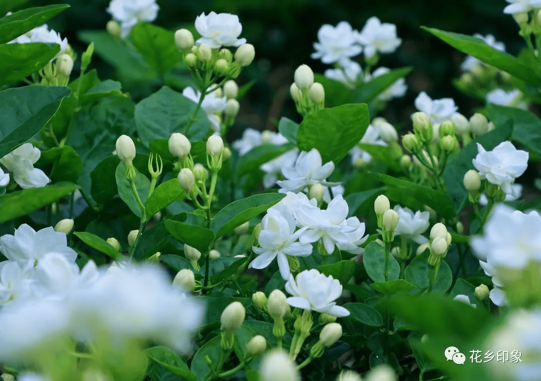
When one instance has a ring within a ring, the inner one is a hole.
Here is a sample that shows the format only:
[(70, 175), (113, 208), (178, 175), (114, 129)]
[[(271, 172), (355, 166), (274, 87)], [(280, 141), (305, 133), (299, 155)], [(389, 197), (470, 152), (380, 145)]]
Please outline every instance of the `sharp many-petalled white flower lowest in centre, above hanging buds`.
[(293, 295), (287, 298), (287, 303), (295, 308), (307, 311), (327, 313), (336, 317), (349, 315), (344, 307), (336, 305), (334, 300), (342, 294), (342, 285), (332, 276), (326, 277), (318, 270), (305, 270), (297, 275), (289, 276), (286, 291)]

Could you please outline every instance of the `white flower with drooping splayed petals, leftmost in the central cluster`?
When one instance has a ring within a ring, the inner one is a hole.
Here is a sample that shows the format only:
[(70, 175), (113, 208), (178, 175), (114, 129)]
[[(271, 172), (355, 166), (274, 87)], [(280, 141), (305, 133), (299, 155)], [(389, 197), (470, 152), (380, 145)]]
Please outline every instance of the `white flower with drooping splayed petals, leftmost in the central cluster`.
[(285, 218), (278, 211), (269, 209), (261, 222), (261, 232), (258, 239), (260, 247), (254, 246), (252, 248), (258, 257), (248, 267), (264, 269), (271, 264), (274, 258), (277, 258), (280, 275), (283, 279), (288, 279), (291, 272), (286, 255), (306, 257), (312, 254), (311, 244), (296, 242), (306, 229), (308, 228), (295, 231), (293, 215)]

